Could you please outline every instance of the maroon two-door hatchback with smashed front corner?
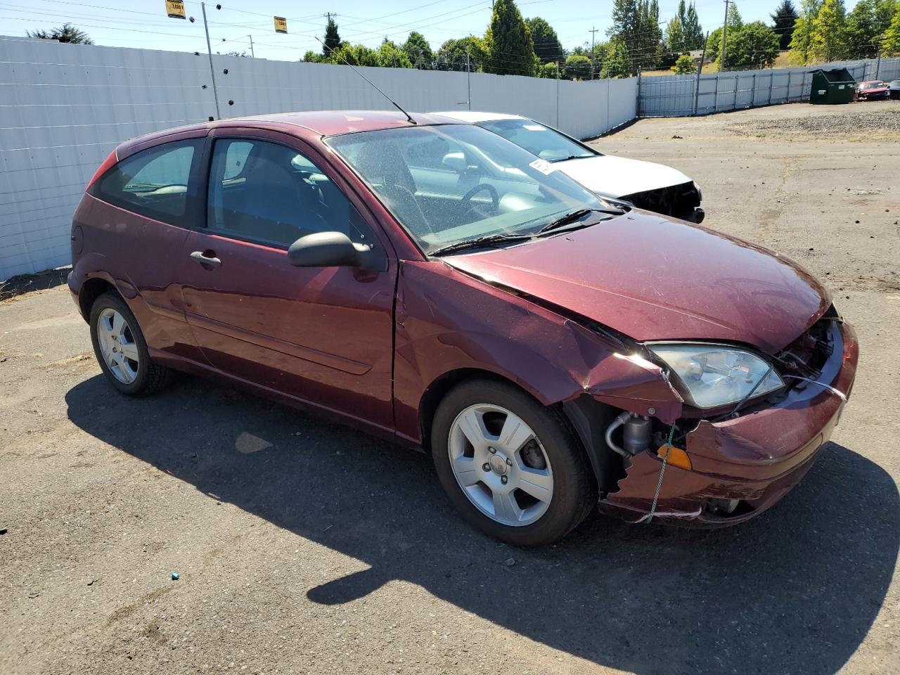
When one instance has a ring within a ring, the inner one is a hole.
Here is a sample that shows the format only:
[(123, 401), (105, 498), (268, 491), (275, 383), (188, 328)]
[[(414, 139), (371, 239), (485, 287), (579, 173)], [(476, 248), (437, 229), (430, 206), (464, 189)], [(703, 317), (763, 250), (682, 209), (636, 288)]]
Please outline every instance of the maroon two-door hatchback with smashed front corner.
[(813, 464), (857, 364), (795, 263), (427, 115), (123, 143), (78, 206), (72, 257), (120, 392), (189, 371), (428, 450), (464, 518), (516, 545), (598, 504), (752, 518)]

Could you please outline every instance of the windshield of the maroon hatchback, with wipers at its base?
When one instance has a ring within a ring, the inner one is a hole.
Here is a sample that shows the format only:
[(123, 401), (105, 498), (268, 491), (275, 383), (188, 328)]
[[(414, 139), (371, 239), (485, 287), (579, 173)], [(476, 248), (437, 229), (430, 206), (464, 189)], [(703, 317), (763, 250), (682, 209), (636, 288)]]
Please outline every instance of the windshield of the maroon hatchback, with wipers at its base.
[(571, 211), (608, 209), (508, 140), (468, 124), (326, 139), (427, 253), (493, 235), (525, 236)]

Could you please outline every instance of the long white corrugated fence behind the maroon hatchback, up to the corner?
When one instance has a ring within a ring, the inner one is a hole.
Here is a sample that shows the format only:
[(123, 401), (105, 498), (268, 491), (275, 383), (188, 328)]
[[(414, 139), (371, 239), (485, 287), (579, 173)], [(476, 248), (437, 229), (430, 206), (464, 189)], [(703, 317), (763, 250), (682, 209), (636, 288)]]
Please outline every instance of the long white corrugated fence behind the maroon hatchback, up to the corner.
[[(223, 118), (392, 109), (347, 66), (226, 56), (212, 61)], [(410, 111), (515, 112), (582, 139), (636, 114), (635, 78), (568, 82), (363, 70)], [(205, 53), (0, 38), (0, 280), (69, 262), (72, 213), (118, 143), (215, 116)]]

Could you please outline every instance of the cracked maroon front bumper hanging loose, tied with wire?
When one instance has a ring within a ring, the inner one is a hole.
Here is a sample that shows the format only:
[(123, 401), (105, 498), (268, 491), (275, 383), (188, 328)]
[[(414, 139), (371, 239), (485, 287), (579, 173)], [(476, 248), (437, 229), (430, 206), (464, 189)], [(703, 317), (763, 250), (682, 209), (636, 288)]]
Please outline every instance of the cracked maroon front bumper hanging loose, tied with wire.
[[(820, 381), (849, 395), (859, 343), (846, 323), (835, 322), (833, 339), (833, 354)], [(715, 424), (701, 421), (687, 437), (692, 468), (666, 467), (654, 518), (725, 527), (758, 516), (797, 485), (813, 465), (843, 405), (835, 393), (809, 383), (770, 408)], [(632, 522), (646, 518), (661, 465), (650, 451), (633, 457), (618, 490), (601, 500), (599, 509)], [(740, 503), (726, 515), (710, 509), (710, 500)]]

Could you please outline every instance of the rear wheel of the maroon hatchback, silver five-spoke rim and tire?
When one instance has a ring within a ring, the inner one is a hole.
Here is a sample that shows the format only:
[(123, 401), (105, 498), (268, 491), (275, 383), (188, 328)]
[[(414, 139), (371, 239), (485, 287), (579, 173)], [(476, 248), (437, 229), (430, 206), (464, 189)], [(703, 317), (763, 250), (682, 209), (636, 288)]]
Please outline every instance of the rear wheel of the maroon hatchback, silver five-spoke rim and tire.
[(150, 361), (138, 320), (116, 293), (103, 293), (91, 307), (91, 342), (106, 379), (129, 396), (146, 396), (166, 385), (168, 368)]

